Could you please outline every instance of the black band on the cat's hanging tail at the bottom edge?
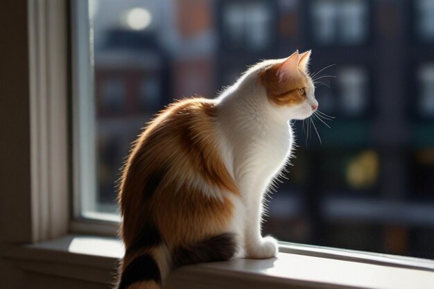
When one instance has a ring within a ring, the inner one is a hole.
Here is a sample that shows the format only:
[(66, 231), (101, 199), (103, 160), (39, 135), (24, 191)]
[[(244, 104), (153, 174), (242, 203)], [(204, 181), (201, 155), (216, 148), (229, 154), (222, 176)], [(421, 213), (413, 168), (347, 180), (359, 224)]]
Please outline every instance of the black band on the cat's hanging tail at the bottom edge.
[(126, 289), (132, 284), (141, 281), (155, 281), (160, 283), (161, 275), (157, 262), (150, 255), (138, 256), (132, 261), (121, 275), (118, 289)]

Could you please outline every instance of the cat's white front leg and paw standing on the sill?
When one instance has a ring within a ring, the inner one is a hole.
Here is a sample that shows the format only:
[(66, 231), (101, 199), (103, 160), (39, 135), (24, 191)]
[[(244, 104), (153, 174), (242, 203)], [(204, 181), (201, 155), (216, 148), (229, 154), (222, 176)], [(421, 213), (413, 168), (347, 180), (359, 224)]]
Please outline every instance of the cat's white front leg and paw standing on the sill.
[(245, 226), (245, 252), (248, 258), (268, 259), (277, 255), (279, 245), (272, 236), (261, 236), (262, 202), (250, 203)]

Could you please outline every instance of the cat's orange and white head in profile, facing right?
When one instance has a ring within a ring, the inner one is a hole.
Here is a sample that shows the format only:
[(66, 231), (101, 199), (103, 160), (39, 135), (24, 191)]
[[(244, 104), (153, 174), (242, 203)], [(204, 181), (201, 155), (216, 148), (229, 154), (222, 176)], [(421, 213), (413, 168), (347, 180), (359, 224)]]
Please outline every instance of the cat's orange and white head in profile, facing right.
[(318, 108), (308, 72), (310, 57), (311, 51), (296, 51), (288, 58), (273, 60), (260, 73), (271, 105), (290, 119), (306, 119)]

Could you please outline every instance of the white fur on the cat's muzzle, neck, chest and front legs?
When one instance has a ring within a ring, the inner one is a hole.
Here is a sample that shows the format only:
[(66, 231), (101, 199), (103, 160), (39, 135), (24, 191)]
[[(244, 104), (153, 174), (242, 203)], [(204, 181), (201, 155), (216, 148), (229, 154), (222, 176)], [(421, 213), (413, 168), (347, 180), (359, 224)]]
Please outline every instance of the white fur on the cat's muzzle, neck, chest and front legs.
[(216, 100), (223, 159), (241, 189), (241, 200), (233, 200), (234, 218), (229, 227), (243, 245), (238, 256), (264, 259), (277, 254), (277, 240), (261, 236), (264, 195), (290, 157), (293, 132), (289, 121), (306, 119), (313, 113), (312, 105), (318, 105), (312, 83), (306, 87), (302, 105), (270, 103), (259, 72), (283, 61), (257, 64)]

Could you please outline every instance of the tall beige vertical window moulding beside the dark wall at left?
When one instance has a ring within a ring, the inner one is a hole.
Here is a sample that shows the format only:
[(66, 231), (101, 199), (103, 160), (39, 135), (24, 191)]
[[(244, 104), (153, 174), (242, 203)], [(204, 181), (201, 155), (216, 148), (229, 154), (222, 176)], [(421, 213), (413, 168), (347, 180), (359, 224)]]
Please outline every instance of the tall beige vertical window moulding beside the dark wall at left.
[(66, 0), (27, 2), (33, 243), (68, 232), (66, 3)]

